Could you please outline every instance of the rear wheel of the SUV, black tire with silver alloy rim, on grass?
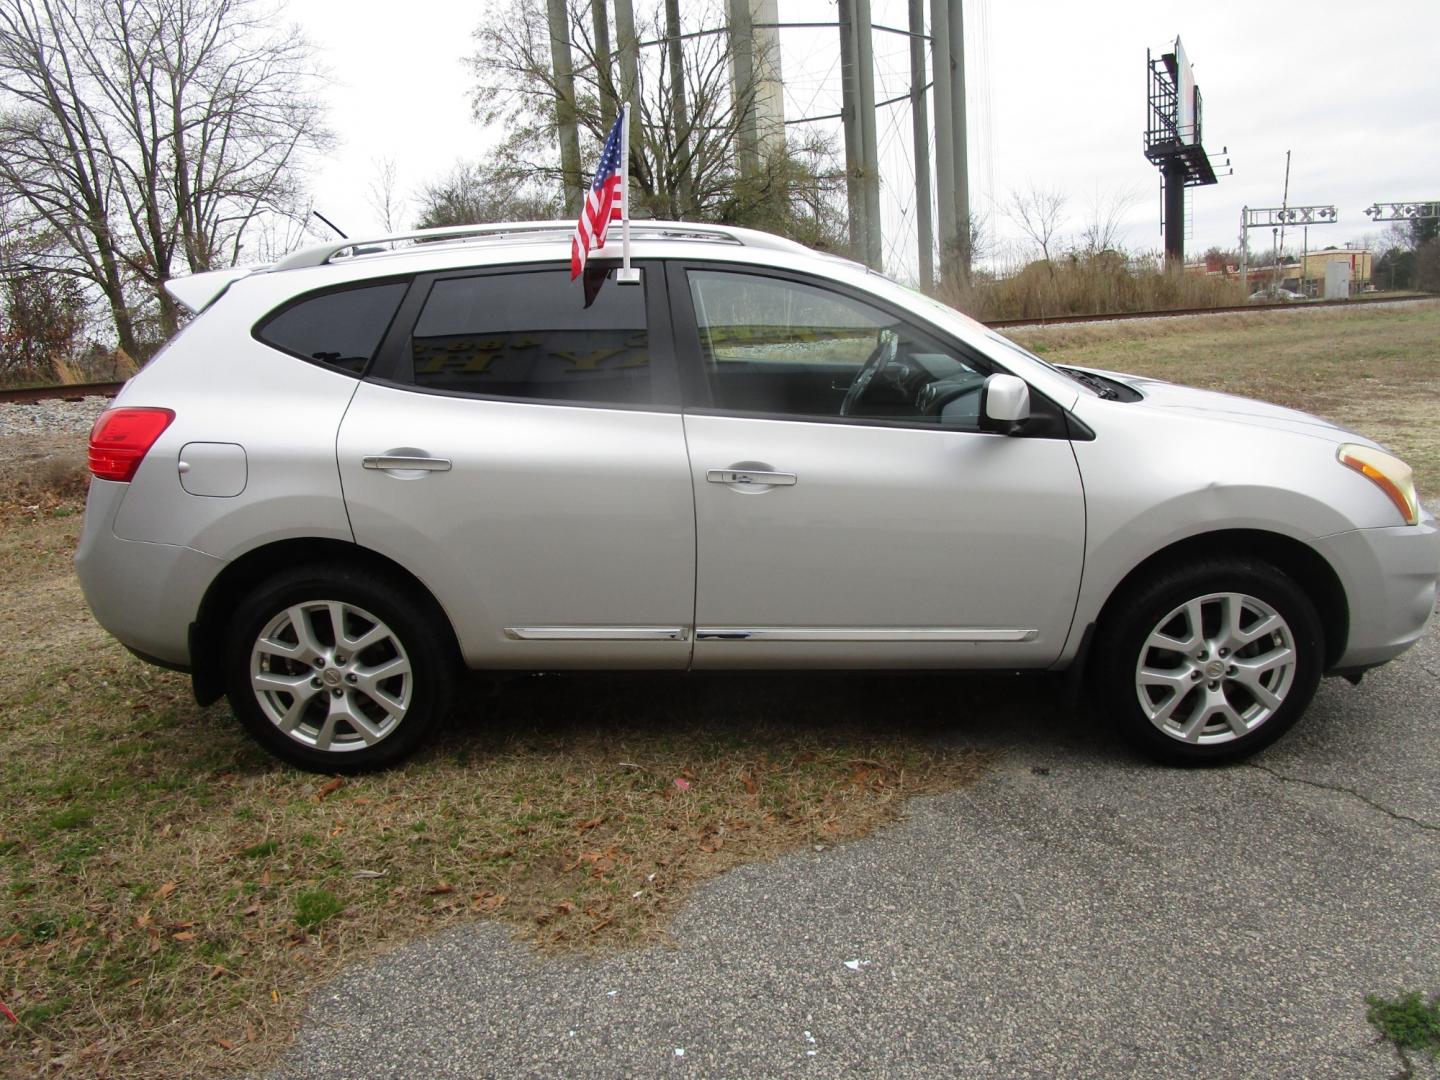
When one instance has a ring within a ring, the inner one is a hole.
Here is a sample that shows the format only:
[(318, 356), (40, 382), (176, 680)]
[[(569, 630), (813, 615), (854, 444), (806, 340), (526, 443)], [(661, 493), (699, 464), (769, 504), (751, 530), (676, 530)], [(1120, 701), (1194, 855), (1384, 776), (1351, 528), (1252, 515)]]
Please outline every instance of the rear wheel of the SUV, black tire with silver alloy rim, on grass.
[[(336, 618), (347, 635), (338, 641)], [(346, 641), (363, 647), (346, 655)], [(413, 753), (449, 711), (459, 668), (429, 596), (344, 566), (300, 566), (266, 580), (236, 608), (223, 648), (240, 723), (276, 757), (327, 773), (383, 769)]]

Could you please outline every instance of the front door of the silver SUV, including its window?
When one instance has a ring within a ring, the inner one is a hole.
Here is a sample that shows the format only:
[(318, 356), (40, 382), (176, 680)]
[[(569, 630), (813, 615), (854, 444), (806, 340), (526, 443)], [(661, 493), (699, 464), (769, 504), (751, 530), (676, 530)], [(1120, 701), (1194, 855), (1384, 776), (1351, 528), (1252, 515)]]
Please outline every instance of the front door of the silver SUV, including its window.
[(912, 314), (780, 271), (671, 274), (694, 667), (1053, 662), (1084, 550), (1058, 406), (981, 431), (1004, 369)]

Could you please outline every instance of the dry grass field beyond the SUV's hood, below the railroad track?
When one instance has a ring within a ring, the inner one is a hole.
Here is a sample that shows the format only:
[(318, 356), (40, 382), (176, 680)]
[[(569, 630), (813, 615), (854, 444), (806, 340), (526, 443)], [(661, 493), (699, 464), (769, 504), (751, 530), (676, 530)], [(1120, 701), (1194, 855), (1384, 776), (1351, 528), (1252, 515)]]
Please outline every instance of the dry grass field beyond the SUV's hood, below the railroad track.
[(1007, 331), (1047, 360), (1318, 413), (1390, 446), (1440, 495), (1440, 301)]

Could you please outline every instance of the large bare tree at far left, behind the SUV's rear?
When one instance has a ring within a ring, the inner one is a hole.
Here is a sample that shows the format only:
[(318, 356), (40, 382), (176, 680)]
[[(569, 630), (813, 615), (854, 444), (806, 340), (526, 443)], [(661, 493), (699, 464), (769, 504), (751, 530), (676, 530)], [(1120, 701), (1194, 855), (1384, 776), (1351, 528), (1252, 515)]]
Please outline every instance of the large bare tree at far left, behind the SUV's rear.
[(144, 311), (177, 323), (167, 278), (295, 212), (327, 141), (311, 69), (261, 0), (0, 0), (0, 194), (56, 238), (35, 268), (95, 285), (143, 354)]

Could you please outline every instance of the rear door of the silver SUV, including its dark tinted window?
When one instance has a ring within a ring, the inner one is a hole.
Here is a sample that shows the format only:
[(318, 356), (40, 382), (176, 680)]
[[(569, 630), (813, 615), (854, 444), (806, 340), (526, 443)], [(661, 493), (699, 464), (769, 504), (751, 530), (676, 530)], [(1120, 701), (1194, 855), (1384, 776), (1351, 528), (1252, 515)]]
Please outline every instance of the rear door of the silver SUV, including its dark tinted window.
[(694, 497), (641, 271), (593, 298), (553, 266), (420, 278), (346, 413), (356, 540), (431, 589), (474, 667), (690, 660)]

